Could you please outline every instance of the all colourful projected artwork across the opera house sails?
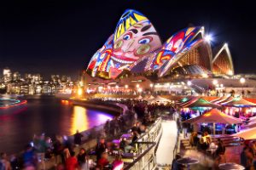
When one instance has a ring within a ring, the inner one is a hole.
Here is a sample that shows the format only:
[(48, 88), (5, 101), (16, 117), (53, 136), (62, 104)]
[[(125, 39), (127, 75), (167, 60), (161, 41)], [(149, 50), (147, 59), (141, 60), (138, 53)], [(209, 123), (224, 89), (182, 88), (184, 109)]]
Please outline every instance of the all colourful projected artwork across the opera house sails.
[[(119, 19), (113, 35), (90, 59), (87, 72), (92, 77), (106, 79), (115, 79), (123, 71), (133, 73), (158, 71), (158, 77), (163, 77), (175, 65), (180, 65), (179, 59), (188, 54), (189, 50), (198, 47), (198, 44), (203, 42), (203, 38), (204, 27), (189, 27), (177, 31), (162, 45), (157, 31), (148, 18), (136, 10), (128, 9)], [(205, 68), (212, 71), (212, 51), (210, 49), (208, 53), (208, 48), (211, 46), (207, 44), (206, 42), (203, 45), (207, 47), (206, 55), (209, 59), (203, 58), (201, 59), (203, 62), (196, 64), (204, 63), (207, 65)], [(195, 54), (195, 58), (199, 56)], [(229, 60), (231, 65), (231, 57)], [(221, 65), (219, 64), (221, 62), (215, 63)], [(233, 71), (232, 68), (230, 71)]]

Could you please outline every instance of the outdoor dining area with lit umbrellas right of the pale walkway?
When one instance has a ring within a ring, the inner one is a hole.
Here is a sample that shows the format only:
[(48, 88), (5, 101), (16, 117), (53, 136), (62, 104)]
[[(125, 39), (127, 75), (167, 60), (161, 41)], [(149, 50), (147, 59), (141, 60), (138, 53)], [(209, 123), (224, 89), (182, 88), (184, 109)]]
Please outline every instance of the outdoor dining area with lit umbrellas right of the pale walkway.
[[(254, 121), (256, 104), (240, 97), (223, 96), (212, 101), (186, 97), (177, 101), (176, 105), (180, 108), (182, 129), (180, 152), (174, 164), (188, 169), (248, 167), (240, 156), (243, 150), (253, 148), (256, 129), (244, 129), (244, 117), (250, 116), (248, 122)], [(246, 153), (249, 155), (250, 151)]]

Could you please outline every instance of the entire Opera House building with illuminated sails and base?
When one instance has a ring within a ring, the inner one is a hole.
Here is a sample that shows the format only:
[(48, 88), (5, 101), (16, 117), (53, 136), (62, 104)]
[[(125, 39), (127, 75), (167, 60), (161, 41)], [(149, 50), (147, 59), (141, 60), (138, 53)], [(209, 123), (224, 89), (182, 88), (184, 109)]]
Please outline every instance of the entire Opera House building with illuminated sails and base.
[(136, 77), (170, 80), (233, 74), (227, 43), (212, 50), (203, 26), (177, 31), (162, 43), (143, 14), (126, 10), (113, 35), (90, 59), (84, 79), (87, 83), (108, 83)]

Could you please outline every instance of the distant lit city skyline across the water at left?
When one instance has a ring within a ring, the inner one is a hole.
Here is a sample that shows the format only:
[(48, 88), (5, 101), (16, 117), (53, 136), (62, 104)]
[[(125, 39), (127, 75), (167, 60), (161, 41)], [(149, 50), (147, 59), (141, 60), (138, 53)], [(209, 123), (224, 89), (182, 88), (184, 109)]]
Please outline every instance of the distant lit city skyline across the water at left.
[(19, 72), (13, 74), (9, 69), (3, 69), (0, 77), (0, 94), (71, 94), (74, 82), (71, 77), (52, 75), (45, 80), (40, 74), (25, 74), (21, 77)]

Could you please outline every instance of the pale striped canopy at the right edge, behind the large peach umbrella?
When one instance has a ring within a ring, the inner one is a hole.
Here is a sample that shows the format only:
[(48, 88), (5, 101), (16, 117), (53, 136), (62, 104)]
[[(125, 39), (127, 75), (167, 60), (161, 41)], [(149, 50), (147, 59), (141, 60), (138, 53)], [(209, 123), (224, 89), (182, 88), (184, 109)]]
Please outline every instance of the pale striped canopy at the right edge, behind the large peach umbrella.
[(242, 98), (235, 98), (231, 101), (222, 103), (221, 105), (229, 106), (229, 107), (255, 107), (256, 104), (253, 102), (247, 101), (246, 99)]

